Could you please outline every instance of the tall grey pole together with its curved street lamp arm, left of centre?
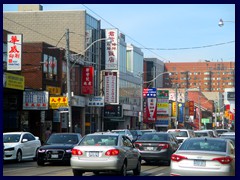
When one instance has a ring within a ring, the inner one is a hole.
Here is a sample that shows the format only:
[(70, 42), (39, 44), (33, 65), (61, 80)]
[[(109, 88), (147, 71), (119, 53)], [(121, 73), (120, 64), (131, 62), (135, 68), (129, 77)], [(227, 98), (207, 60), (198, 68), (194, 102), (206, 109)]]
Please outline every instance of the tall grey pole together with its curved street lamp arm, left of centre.
[[(101, 38), (97, 39), (96, 41), (92, 42), (82, 53), (75, 54), (75, 55), (82, 55), (84, 54), (91, 46), (93, 46), (95, 43), (107, 40), (107, 42), (111, 42), (108, 38)], [(71, 84), (70, 84), (70, 71), (74, 67), (77, 61), (75, 61), (72, 66), (70, 66), (70, 58), (69, 58), (69, 29), (66, 29), (66, 61), (67, 61), (67, 98), (68, 98), (68, 127), (69, 132), (72, 132), (72, 102), (71, 102)], [(91, 63), (91, 62), (89, 62)]]

